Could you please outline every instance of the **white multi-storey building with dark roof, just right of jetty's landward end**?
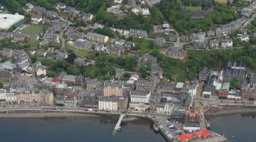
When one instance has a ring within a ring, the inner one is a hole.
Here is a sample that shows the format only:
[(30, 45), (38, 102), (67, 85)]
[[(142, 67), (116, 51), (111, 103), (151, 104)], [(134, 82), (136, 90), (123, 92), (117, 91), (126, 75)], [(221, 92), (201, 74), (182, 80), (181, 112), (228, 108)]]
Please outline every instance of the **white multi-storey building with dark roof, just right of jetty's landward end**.
[(131, 102), (149, 103), (151, 92), (134, 90), (130, 92)]

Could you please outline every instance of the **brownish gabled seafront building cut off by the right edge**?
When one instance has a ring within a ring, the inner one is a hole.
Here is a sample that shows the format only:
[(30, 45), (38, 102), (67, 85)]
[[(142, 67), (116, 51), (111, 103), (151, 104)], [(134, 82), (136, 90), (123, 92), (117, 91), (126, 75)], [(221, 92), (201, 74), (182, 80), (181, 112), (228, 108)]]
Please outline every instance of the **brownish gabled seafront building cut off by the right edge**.
[(256, 99), (256, 84), (247, 84), (246, 87), (242, 88), (242, 99)]

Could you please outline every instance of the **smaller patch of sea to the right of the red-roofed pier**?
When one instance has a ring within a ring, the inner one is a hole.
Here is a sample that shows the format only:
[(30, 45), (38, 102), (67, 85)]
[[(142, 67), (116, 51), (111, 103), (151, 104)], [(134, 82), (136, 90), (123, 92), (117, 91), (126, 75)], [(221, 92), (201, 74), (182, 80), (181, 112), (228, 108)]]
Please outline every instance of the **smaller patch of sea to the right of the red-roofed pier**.
[(231, 142), (255, 142), (256, 113), (222, 115), (210, 118), (213, 131), (224, 135)]

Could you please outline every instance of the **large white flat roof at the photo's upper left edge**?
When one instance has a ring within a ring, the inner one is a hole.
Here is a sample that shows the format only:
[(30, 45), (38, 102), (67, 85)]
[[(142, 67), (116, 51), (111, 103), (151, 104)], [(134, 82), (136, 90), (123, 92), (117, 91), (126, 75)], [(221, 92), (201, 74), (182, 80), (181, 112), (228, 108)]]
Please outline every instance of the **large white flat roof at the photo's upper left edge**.
[(24, 16), (19, 15), (18, 13), (9, 14), (9, 13), (0, 13), (0, 29), (11, 28), (15, 23), (23, 20)]

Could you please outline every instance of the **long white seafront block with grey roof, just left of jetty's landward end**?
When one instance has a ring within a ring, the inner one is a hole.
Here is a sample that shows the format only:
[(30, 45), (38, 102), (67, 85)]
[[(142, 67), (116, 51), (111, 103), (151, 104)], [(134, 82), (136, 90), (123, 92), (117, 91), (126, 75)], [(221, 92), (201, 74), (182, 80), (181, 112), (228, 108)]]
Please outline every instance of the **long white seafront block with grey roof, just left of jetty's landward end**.
[(128, 105), (128, 97), (99, 97), (99, 109), (118, 111), (126, 110)]

